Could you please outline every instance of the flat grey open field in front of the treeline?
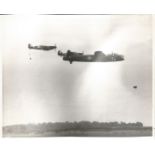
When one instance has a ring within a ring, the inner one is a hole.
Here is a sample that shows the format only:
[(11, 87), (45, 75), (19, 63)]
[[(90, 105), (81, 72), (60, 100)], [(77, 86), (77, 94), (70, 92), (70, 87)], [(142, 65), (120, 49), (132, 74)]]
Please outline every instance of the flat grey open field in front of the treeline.
[(141, 129), (65, 130), (46, 132), (3, 132), (4, 137), (141, 137), (152, 136), (151, 127)]

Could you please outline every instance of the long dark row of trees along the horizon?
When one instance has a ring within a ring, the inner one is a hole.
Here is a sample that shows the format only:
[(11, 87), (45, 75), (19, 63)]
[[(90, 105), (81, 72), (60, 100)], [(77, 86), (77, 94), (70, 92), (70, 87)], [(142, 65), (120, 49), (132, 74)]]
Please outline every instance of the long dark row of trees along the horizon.
[(140, 129), (143, 128), (141, 122), (125, 123), (125, 122), (56, 122), (41, 123), (27, 125), (11, 125), (3, 127), (4, 133), (29, 133), (29, 132), (51, 132), (51, 131), (67, 131), (67, 130), (106, 130), (106, 129)]

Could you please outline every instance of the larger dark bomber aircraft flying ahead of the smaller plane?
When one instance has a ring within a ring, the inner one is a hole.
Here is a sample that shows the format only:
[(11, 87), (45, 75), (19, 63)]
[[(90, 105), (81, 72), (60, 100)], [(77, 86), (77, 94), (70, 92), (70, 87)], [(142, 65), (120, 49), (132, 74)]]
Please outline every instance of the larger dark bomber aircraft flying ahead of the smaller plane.
[(58, 51), (58, 55), (63, 57), (64, 61), (69, 61), (72, 64), (73, 61), (80, 62), (114, 62), (123, 61), (124, 56), (116, 53), (104, 54), (102, 51), (95, 51), (94, 54), (77, 53), (68, 50), (66, 53)]

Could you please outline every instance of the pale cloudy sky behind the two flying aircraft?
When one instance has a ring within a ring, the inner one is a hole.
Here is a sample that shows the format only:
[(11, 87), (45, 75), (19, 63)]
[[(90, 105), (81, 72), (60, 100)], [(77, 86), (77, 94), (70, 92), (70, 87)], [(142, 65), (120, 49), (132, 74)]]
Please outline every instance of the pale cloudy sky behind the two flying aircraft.
[[(151, 125), (151, 22), (151, 15), (1, 16), (4, 125), (82, 120)], [(63, 52), (116, 52), (125, 61), (70, 65), (57, 51), (29, 50), (28, 43), (56, 44)]]

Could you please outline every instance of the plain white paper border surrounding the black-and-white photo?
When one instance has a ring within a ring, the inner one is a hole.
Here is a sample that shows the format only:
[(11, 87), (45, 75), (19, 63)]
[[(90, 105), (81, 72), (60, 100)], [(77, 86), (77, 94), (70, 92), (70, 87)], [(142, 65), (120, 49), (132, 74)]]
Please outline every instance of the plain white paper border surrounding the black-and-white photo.
[[(78, 0), (4, 0), (0, 4), (0, 13), (2, 14), (55, 14), (55, 13), (86, 13), (86, 14), (155, 14), (153, 0), (108, 0), (100, 1)], [(154, 17), (153, 17), (154, 18)], [(153, 22), (153, 25), (154, 22)], [(154, 27), (154, 26), (153, 26)], [(153, 38), (155, 32), (153, 32)], [(155, 43), (153, 41), (153, 60)], [(0, 59), (0, 72), (2, 73), (2, 59)], [(155, 62), (153, 62), (153, 67)], [(155, 72), (153, 73), (155, 80)], [(0, 74), (0, 86), (2, 91), (2, 74)], [(155, 82), (153, 82), (153, 91)], [(2, 93), (0, 95), (2, 98)], [(153, 96), (154, 103), (154, 96)], [(0, 105), (2, 114), (2, 102)], [(155, 106), (153, 107), (155, 113)], [(0, 116), (0, 125), (2, 117)], [(153, 117), (153, 124), (155, 119)], [(154, 133), (155, 134), (155, 133)], [(153, 155), (155, 154), (155, 141), (152, 137), (139, 138), (0, 138), (0, 154), (4, 155), (27, 155), (27, 154), (119, 154), (119, 155)]]

